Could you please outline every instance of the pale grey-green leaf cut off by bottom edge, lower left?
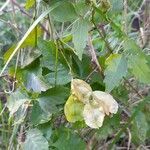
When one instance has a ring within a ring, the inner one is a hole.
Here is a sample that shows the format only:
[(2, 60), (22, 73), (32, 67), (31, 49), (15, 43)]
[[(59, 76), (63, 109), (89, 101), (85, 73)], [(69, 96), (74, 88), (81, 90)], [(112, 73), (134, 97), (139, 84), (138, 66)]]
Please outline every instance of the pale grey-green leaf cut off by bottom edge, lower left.
[(49, 150), (48, 142), (38, 129), (31, 129), (27, 132), (26, 140), (23, 143), (24, 150)]

